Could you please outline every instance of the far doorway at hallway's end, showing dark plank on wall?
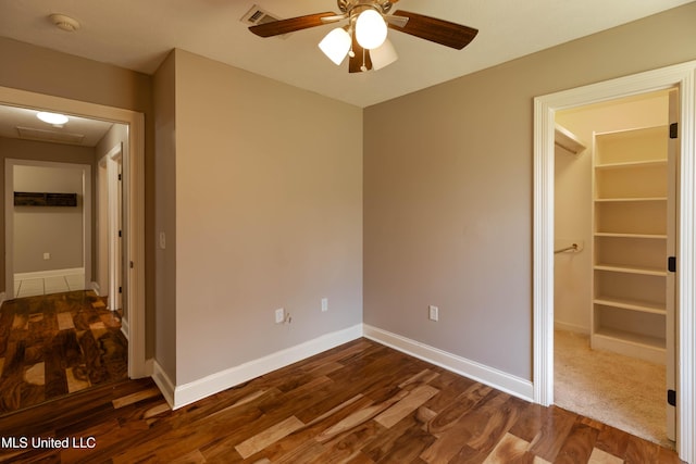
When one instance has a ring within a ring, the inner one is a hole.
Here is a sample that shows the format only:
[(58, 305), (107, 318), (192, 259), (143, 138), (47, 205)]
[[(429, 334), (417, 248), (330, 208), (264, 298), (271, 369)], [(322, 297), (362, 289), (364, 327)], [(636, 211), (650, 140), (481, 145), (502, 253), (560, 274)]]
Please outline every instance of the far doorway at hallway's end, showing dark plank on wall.
[(89, 288), (91, 180), (91, 164), (5, 159), (8, 298)]

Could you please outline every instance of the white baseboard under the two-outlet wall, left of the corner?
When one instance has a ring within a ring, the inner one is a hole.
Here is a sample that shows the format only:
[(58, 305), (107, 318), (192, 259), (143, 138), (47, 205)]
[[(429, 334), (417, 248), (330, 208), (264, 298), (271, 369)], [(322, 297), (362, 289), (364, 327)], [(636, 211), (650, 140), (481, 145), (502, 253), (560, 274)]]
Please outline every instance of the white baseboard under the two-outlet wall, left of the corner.
[(360, 337), (359, 324), (176, 387), (156, 362), (152, 378), (175, 410)]

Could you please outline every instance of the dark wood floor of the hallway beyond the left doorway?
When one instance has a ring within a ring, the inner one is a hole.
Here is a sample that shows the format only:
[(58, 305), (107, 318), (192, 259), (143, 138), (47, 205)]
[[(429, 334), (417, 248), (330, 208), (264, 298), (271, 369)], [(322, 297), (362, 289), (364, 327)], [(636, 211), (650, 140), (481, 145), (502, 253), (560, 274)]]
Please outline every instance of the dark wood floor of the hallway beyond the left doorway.
[(127, 378), (120, 317), (94, 291), (18, 298), (0, 308), (0, 415)]

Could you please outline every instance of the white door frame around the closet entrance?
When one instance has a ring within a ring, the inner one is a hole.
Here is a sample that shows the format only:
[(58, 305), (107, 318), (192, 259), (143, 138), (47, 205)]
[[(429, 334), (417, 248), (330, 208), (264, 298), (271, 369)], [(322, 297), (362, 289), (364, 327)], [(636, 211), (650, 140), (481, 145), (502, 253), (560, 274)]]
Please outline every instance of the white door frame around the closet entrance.
[[(696, 61), (534, 99), (534, 401), (554, 402), (554, 128), (559, 110), (680, 89), (676, 451), (696, 462)], [(667, 397), (667, 392), (666, 392)]]

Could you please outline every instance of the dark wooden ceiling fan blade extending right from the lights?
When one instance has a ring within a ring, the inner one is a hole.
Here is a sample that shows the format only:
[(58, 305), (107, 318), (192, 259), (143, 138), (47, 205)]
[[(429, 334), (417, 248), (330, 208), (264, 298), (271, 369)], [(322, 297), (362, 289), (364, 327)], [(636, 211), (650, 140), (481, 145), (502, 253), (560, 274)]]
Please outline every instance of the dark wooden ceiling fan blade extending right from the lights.
[(478, 34), (478, 29), (472, 27), (409, 11), (398, 10), (394, 15), (406, 16), (409, 21), (403, 27), (389, 23), (390, 28), (457, 50), (467, 47)]

